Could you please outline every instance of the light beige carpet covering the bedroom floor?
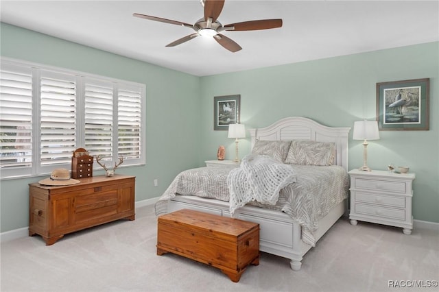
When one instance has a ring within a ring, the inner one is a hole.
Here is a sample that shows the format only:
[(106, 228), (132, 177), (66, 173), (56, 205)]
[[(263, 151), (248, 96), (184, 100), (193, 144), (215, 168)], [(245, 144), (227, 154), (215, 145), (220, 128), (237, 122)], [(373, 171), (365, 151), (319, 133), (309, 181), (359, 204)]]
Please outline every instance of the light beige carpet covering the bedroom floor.
[[(64, 236), (1, 244), (1, 291), (439, 291), (439, 234), (340, 219), (311, 249), (302, 269), (261, 254), (238, 283), (218, 269), (173, 254), (156, 255), (152, 206), (135, 221), (117, 221)], [(396, 282), (414, 280), (416, 282)], [(421, 288), (389, 287), (394, 285)], [(437, 283), (437, 282), (436, 282)]]

